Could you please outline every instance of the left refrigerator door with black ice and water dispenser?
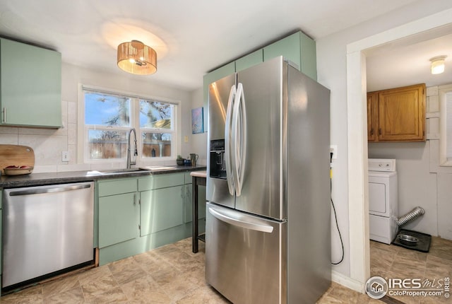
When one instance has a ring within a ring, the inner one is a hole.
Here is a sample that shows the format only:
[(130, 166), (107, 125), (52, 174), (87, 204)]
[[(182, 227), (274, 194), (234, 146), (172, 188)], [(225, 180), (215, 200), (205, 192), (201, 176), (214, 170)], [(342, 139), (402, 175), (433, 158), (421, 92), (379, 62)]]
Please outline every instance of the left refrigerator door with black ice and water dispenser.
[[(236, 74), (221, 78), (210, 83), (208, 99), (208, 153), (207, 153), (207, 183), (206, 199), (223, 206), (234, 207), (234, 192), (228, 187), (232, 175), (225, 173), (225, 124), (228, 100), (231, 88), (235, 86)], [(223, 147), (219, 143), (223, 143)], [(217, 159), (214, 159), (217, 158)], [(215, 167), (215, 170), (214, 170)], [(224, 171), (222, 172), (222, 168)]]

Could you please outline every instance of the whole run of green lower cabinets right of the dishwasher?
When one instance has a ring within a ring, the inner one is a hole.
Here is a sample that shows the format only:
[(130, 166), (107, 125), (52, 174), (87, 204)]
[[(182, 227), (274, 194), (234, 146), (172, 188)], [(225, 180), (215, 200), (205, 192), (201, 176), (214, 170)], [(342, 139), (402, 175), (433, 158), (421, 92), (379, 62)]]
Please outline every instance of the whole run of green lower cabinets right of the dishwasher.
[(167, 173), (98, 182), (100, 265), (191, 236), (191, 223), (184, 223), (185, 175)]

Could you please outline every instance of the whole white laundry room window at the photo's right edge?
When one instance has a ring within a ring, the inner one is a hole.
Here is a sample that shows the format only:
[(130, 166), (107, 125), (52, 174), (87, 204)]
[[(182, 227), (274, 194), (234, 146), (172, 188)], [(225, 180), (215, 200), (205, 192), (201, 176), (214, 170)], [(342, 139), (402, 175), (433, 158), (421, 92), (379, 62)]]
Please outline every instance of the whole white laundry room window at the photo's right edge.
[(440, 105), (440, 165), (452, 166), (452, 84), (438, 87)]

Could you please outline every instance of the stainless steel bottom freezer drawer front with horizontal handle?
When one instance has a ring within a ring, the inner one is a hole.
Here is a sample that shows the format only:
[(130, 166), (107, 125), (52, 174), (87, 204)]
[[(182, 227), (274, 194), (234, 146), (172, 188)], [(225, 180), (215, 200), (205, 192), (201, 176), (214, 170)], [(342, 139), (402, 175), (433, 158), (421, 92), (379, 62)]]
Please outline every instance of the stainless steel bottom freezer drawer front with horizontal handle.
[(207, 283), (234, 304), (286, 303), (286, 227), (208, 203)]

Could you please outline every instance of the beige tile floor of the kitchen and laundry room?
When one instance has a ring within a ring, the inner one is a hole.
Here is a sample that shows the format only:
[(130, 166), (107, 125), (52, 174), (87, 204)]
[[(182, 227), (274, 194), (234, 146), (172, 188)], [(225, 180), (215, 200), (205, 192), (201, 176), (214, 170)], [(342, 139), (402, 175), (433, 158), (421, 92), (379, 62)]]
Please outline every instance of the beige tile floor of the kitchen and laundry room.
[[(0, 298), (1, 303), (230, 303), (204, 281), (204, 244), (191, 252), (191, 238), (71, 274)], [(452, 276), (452, 242), (434, 238), (429, 254), (371, 242), (371, 274), (387, 277)], [(396, 298), (403, 303), (436, 299)], [(386, 303), (392, 299), (383, 298)], [(443, 299), (440, 299), (440, 301)], [(405, 302), (406, 301), (406, 302)], [(337, 283), (318, 303), (382, 303)], [(445, 302), (446, 303), (446, 302)]]

